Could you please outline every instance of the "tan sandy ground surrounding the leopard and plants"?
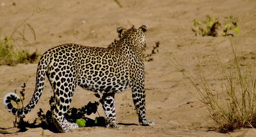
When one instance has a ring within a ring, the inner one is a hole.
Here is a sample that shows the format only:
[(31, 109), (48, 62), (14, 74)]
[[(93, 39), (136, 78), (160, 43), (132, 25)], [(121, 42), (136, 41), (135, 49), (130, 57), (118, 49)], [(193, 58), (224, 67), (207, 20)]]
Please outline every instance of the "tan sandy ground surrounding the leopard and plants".
[[(16, 6), (12, 3), (15, 2)], [(220, 90), (221, 80), (216, 72), (220, 70), (218, 52), (225, 66), (233, 62), (230, 43), (237, 51), (241, 67), (254, 63), (256, 57), (256, 2), (251, 1), (120, 1), (120, 8), (114, 1), (0, 1), (0, 36), (11, 35), (17, 25), (33, 13), (43, 8), (27, 22), (36, 32), (36, 40), (29, 31), (26, 37), (31, 46), (20, 49), (38, 50), (40, 54), (63, 43), (78, 43), (93, 47), (106, 47), (115, 38), (117, 27), (136, 28), (146, 25), (147, 49), (150, 53), (155, 41), (160, 41), (159, 53), (154, 60), (145, 62), (146, 113), (155, 126), (143, 127), (135, 124), (138, 118), (132, 102), (131, 89), (116, 95), (117, 123), (123, 129), (104, 127), (78, 128), (71, 133), (53, 133), (44, 130), (45, 136), (253, 136), (255, 129), (240, 129), (222, 134), (212, 131), (217, 127), (209, 117), (199, 95), (187, 79), (173, 66), (176, 58), (186, 71), (197, 77), (199, 73), (197, 57), (212, 87)], [(235, 37), (200, 37), (191, 31), (193, 19), (203, 20), (206, 15), (225, 21), (233, 16), (238, 21), (241, 32)], [(20, 89), (27, 82), (27, 104), (33, 95), (37, 63), (0, 66), (0, 100), (10, 91)], [(253, 69), (255, 67), (252, 67)], [(255, 69), (254, 69), (255, 70)], [(189, 89), (189, 90), (188, 90)], [(26, 115), (32, 122), (39, 108), (49, 109), (52, 96), (49, 81), (37, 106)], [(94, 101), (92, 92), (77, 87), (72, 106), (81, 107)], [(103, 115), (103, 110), (99, 108)], [(91, 115), (94, 119), (97, 115)], [(0, 103), (0, 136), (40, 136), (41, 128), (17, 132), (12, 127), (12, 116)], [(7, 133), (7, 134), (2, 134)]]

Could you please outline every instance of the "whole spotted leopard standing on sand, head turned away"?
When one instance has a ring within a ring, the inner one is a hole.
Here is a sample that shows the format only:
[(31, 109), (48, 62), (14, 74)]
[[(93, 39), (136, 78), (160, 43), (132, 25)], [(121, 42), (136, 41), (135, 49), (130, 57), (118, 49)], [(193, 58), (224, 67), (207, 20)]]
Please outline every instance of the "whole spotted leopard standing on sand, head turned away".
[(36, 71), (36, 84), (32, 99), (24, 108), (13, 107), (11, 101), (20, 97), (8, 93), (4, 97), (5, 107), (15, 116), (24, 116), (38, 103), (47, 76), (54, 93), (55, 108), (52, 120), (59, 132), (70, 132), (77, 128), (65, 118), (76, 86), (102, 94), (102, 107), (106, 127), (121, 129), (116, 124), (115, 94), (132, 88), (132, 98), (142, 126), (155, 125), (146, 119), (145, 110), (145, 48), (146, 26), (138, 29), (119, 27), (119, 40), (107, 48), (88, 47), (80, 44), (62, 44), (46, 51), (40, 57)]

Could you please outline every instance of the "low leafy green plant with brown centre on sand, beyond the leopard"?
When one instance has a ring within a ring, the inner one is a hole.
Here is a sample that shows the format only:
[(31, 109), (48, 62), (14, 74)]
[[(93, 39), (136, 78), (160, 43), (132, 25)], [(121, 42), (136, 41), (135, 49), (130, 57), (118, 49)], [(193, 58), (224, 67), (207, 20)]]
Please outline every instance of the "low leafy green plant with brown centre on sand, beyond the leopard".
[[(230, 16), (229, 19), (232, 19), (232, 17)], [(221, 28), (222, 25), (220, 21), (217, 20), (215, 17), (210, 17), (209, 15), (207, 15), (205, 20), (201, 21), (194, 19), (193, 23), (196, 28), (192, 29), (192, 31), (195, 33), (195, 36), (234, 36), (233, 33), (240, 32), (240, 28), (238, 28), (237, 26), (237, 20), (232, 21), (232, 24), (225, 24), (225, 28), (220, 35), (218, 35), (218, 29)]]

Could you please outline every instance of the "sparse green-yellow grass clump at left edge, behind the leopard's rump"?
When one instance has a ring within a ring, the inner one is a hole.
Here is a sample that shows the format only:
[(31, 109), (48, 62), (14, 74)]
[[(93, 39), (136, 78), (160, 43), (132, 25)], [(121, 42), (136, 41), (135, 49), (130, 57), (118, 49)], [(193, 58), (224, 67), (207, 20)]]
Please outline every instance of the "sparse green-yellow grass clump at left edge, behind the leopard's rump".
[[(5, 36), (4, 39), (0, 39), (0, 65), (15, 65), (17, 63), (32, 63), (36, 61), (39, 54), (37, 50), (33, 53), (29, 53), (28, 50), (22, 50), (20, 48), (20, 43), (23, 45), (31, 45), (29, 40), (26, 38), (26, 27), (29, 28), (31, 34), (36, 40), (36, 33), (33, 27), (28, 24), (27, 20), (30, 19), (37, 13), (40, 13), (43, 9), (34, 10), (32, 15), (23, 20), (8, 37)], [(19, 41), (19, 42), (18, 42)]]

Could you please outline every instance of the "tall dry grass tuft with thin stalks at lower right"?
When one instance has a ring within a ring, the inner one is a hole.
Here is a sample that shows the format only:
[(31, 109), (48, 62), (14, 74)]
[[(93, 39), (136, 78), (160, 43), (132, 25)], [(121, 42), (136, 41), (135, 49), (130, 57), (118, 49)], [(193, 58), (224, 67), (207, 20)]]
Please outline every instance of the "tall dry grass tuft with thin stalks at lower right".
[[(229, 70), (229, 74), (225, 73), (225, 67), (217, 54), (225, 80), (221, 84), (221, 92), (212, 90), (201, 65), (199, 65), (201, 69), (199, 80), (193, 78), (184, 69), (180, 69), (180, 66), (175, 66), (196, 88), (201, 97), (200, 101), (205, 104), (210, 117), (219, 125), (218, 131), (222, 133), (241, 127), (256, 127), (256, 76), (250, 70), (253, 68), (246, 71), (241, 69), (233, 47), (232, 50), (234, 65)], [(200, 59), (198, 60), (200, 64)]]

